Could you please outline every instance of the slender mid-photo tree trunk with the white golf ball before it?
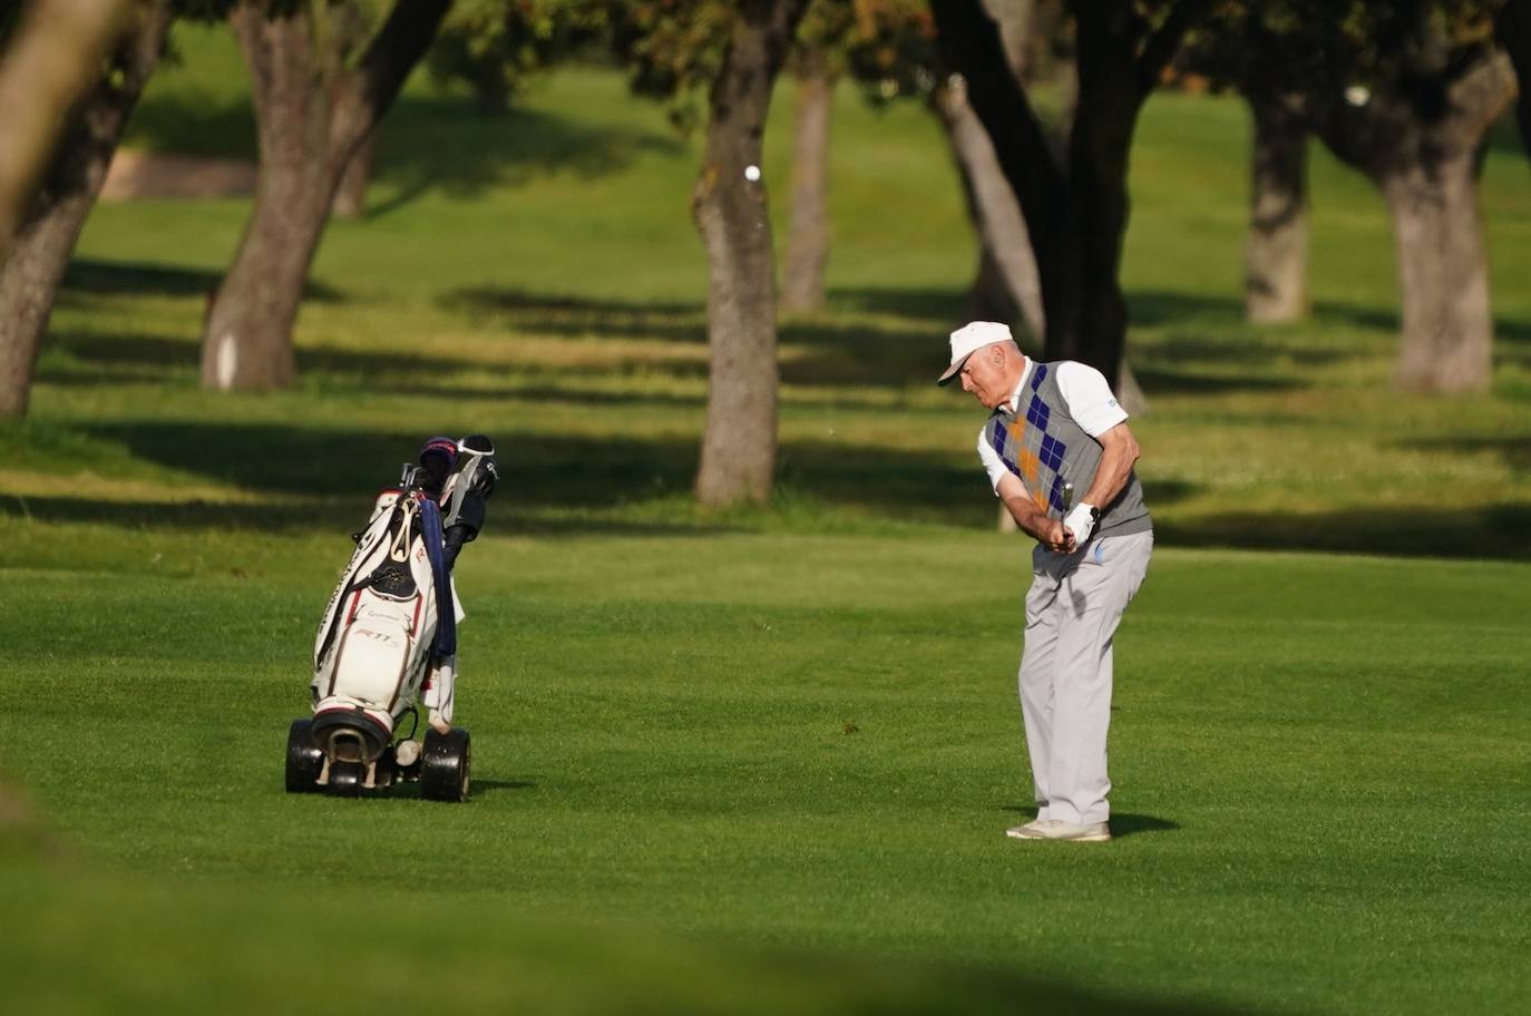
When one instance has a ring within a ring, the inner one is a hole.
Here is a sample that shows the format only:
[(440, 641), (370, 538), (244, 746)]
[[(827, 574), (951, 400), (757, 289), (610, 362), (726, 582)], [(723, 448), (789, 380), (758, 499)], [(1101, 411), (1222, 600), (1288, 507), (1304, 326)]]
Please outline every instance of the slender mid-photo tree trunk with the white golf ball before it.
[(770, 92), (807, 0), (741, 6), (712, 86), (692, 196), (707, 251), (710, 366), (697, 499), (709, 506), (766, 502), (776, 470), (775, 257), (758, 167)]

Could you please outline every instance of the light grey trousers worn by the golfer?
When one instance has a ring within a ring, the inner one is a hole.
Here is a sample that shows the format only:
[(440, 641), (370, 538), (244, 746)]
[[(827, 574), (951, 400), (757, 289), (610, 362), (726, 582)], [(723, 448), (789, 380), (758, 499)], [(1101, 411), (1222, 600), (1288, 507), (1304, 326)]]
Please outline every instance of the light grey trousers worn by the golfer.
[(1112, 637), (1151, 554), (1153, 532), (1098, 537), (1073, 554), (1041, 545), (1032, 552), (1020, 685), (1038, 819), (1110, 819)]

